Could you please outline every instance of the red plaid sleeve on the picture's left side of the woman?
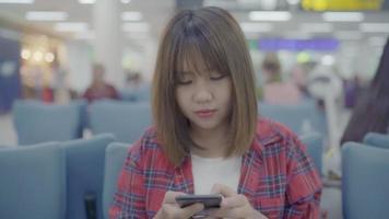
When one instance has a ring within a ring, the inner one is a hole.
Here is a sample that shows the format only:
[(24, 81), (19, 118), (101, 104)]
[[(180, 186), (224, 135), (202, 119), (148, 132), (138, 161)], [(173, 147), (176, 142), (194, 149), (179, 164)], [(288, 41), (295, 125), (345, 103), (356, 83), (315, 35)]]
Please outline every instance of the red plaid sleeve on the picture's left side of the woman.
[(109, 219), (146, 218), (144, 174), (139, 161), (139, 148), (140, 142), (137, 142), (129, 151), (109, 208)]

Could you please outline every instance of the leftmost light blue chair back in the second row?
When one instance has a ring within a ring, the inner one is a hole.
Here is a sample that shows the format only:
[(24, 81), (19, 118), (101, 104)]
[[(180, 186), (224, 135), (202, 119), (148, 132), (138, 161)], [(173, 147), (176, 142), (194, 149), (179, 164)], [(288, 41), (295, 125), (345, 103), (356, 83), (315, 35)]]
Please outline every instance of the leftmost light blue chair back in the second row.
[(80, 102), (56, 105), (15, 101), (12, 114), (19, 145), (80, 138), (81, 107)]

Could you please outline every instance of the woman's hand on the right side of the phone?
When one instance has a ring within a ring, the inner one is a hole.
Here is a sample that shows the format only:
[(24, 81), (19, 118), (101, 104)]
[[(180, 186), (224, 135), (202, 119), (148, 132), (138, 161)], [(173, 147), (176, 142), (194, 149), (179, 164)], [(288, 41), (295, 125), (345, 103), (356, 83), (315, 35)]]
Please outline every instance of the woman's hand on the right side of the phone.
[(246, 196), (237, 194), (226, 185), (215, 184), (211, 193), (224, 196), (221, 208), (208, 210), (211, 218), (267, 219), (251, 207)]

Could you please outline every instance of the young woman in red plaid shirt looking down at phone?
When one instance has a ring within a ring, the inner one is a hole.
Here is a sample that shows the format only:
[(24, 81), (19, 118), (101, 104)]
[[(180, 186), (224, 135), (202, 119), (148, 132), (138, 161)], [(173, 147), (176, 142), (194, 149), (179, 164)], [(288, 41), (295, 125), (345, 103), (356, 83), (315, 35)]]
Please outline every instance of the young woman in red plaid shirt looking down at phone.
[[(185, 10), (162, 37), (154, 127), (130, 149), (110, 218), (190, 218), (181, 194), (222, 194), (211, 218), (318, 218), (321, 183), (297, 137), (257, 119), (245, 37), (225, 10)], [(203, 212), (202, 212), (203, 214)]]

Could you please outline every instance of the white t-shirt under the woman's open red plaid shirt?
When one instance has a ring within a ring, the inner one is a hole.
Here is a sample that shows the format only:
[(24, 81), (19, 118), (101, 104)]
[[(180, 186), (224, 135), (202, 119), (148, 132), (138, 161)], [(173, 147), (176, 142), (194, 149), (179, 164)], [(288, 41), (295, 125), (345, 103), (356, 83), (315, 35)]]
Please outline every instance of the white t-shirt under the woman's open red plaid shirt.
[(240, 178), (241, 157), (201, 158), (191, 154), (194, 194), (211, 193), (214, 184), (224, 184), (237, 191)]

